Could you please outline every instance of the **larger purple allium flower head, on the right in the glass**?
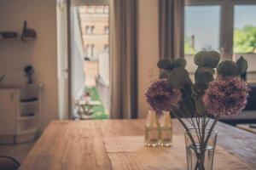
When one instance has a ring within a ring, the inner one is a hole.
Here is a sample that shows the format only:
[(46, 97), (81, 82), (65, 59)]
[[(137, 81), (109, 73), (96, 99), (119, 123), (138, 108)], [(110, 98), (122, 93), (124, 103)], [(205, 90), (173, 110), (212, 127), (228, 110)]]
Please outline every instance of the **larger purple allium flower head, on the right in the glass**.
[(209, 83), (203, 103), (212, 116), (236, 116), (247, 104), (249, 88), (240, 77), (221, 77)]

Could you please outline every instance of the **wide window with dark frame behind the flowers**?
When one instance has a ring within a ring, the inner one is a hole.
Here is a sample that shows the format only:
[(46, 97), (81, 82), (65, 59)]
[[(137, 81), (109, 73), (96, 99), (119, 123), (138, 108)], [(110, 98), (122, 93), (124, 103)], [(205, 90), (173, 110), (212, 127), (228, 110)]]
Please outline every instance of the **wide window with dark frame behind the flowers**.
[(192, 57), (195, 53), (217, 50), (223, 59), (236, 60), (243, 55), (249, 63), (247, 73), (256, 73), (256, 1), (187, 0), (184, 26), (188, 71), (193, 73), (197, 67)]

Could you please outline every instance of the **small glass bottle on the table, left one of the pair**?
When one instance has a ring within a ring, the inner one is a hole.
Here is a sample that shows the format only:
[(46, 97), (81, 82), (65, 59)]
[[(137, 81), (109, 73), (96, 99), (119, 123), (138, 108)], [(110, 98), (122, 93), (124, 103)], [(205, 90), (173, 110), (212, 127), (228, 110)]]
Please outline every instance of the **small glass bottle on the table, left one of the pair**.
[(148, 111), (145, 122), (145, 145), (156, 147), (159, 145), (159, 122), (154, 111)]

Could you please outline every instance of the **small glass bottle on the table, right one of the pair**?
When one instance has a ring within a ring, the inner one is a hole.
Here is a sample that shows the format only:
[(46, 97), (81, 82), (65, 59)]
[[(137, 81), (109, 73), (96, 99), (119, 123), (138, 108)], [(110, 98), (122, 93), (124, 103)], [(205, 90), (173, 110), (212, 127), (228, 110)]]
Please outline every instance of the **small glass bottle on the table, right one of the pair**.
[(172, 145), (172, 120), (169, 111), (163, 111), (160, 117), (160, 145)]

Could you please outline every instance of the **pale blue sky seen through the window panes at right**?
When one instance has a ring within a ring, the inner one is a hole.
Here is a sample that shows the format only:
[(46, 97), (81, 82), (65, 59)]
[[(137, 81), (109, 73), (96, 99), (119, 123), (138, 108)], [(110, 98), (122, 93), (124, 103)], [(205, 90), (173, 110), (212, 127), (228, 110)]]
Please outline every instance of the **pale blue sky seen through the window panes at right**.
[[(218, 50), (220, 12), (218, 5), (185, 7), (185, 35), (195, 35), (196, 51), (209, 46)], [(256, 5), (235, 6), (234, 26), (245, 25), (256, 26)]]

